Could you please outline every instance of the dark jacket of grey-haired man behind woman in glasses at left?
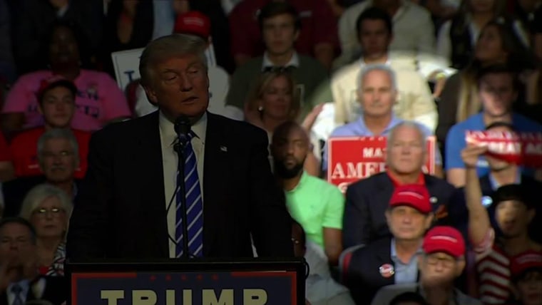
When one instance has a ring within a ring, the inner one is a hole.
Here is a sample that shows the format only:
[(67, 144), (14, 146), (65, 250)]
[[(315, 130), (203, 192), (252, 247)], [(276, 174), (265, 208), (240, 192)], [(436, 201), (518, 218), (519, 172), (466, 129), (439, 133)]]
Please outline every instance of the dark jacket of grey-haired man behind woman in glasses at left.
[[(2, 192), (4, 193), (4, 217), (18, 216), (26, 194), (36, 185), (45, 182), (46, 179), (44, 176), (20, 177), (5, 182), (2, 185)], [(79, 181), (75, 180), (74, 183), (77, 186)]]

